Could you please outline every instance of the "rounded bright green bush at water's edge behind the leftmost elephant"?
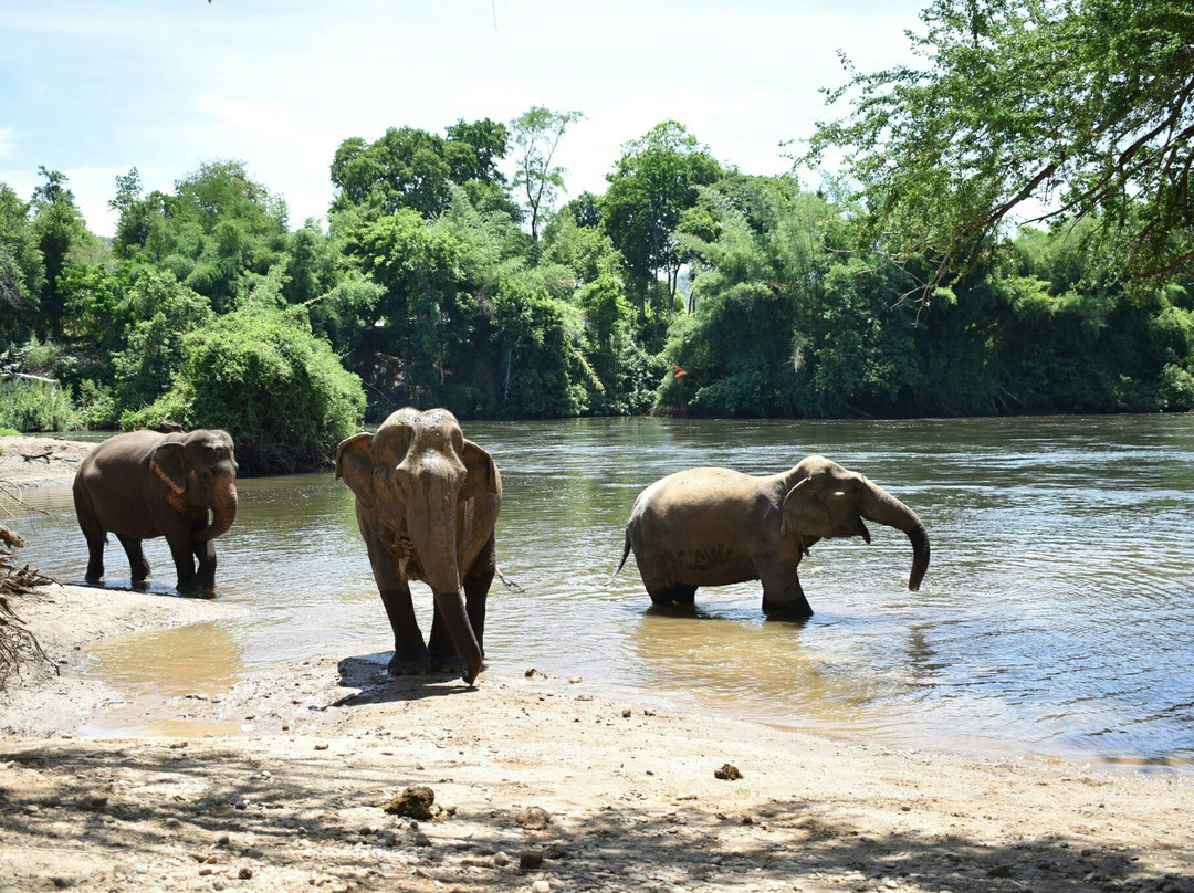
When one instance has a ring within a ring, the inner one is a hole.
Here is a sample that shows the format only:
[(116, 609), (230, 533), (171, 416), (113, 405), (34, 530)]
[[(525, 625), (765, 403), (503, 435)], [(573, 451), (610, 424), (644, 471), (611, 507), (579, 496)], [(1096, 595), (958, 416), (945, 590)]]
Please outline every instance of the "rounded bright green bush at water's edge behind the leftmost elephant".
[(285, 474), (331, 466), (336, 446), (359, 429), (365, 396), (304, 316), (246, 308), (183, 339), (171, 389), (121, 426), (170, 419), (186, 429), (221, 427), (236, 443), (241, 474)]

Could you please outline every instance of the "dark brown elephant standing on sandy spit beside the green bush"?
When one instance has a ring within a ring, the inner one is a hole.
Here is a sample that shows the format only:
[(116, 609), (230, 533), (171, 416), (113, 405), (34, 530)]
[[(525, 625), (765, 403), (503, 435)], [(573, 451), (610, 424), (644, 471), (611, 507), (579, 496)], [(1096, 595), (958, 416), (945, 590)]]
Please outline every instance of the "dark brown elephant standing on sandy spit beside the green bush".
[[(104, 581), (104, 544), (116, 534), (133, 585), (149, 577), (142, 540), (165, 536), (183, 595), (213, 593), (215, 540), (236, 519), (236, 455), (227, 431), (130, 431), (99, 444), (74, 479), (87, 538), (87, 583)], [(210, 523), (208, 512), (210, 511)], [(195, 559), (198, 559), (196, 572)]]

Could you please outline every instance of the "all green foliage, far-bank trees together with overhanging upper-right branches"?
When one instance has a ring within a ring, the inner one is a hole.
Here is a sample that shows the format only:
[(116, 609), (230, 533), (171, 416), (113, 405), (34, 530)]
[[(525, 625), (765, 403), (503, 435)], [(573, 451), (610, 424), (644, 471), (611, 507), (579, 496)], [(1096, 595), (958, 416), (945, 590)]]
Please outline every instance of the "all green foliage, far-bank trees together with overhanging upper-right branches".
[[(581, 116), (542, 107), (345, 140), (326, 228), (291, 229), (282, 198), (234, 161), (168, 193), (146, 193), (136, 170), (117, 178), (110, 241), (86, 230), (60, 172), (43, 170), (27, 202), (0, 184), (0, 372), (59, 382), (0, 381), (0, 425), (219, 426), (264, 473), (326, 466), (340, 438), (402, 405), (464, 418), (1192, 409), (1190, 221), (1171, 193), (1189, 174), (1194, 81), (1175, 66), (1190, 17), (1162, 0), (1110, 6), (938, 0), (921, 38), (930, 72), (858, 75), (855, 118), (819, 133), (817, 150), (853, 152), (855, 178), (819, 192), (727, 167), (667, 121), (623, 147), (603, 195), (558, 208), (555, 148)], [(1140, 41), (1102, 55), (1084, 43), (1115, 23)], [(1017, 70), (1048, 41), (1087, 66), (1085, 98), (1048, 54)], [(959, 92), (966, 81), (978, 92)], [(1156, 129), (1165, 90), (1176, 130), (1124, 148), (1124, 128)], [(1048, 142), (1033, 128), (1063, 104)], [(1079, 159), (1083, 109), (1097, 122)], [(998, 226), (1033, 184), (1065, 196), (1069, 226)], [(1141, 263), (1109, 269), (1124, 252)]]

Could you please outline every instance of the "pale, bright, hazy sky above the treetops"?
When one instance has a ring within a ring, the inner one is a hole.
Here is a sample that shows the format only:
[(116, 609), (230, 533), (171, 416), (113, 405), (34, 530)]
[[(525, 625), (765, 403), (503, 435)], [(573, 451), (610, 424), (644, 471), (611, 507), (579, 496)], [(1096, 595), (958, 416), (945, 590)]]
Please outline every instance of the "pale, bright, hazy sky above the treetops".
[(118, 174), (173, 192), (235, 160), (297, 228), (326, 220), (344, 140), (533, 106), (585, 116), (554, 159), (565, 198), (604, 192), (623, 146), (669, 119), (724, 165), (778, 174), (817, 121), (848, 111), (820, 93), (848, 80), (838, 51), (863, 72), (912, 61), (905, 31), (927, 5), (0, 0), (0, 181), (27, 201), (39, 166), (61, 171), (111, 235)]

